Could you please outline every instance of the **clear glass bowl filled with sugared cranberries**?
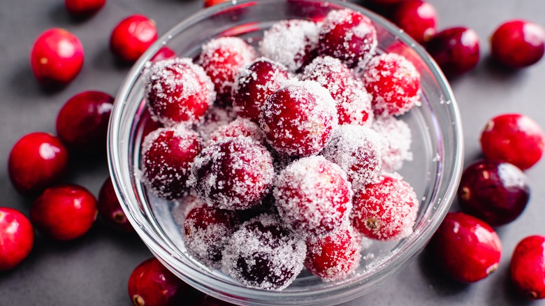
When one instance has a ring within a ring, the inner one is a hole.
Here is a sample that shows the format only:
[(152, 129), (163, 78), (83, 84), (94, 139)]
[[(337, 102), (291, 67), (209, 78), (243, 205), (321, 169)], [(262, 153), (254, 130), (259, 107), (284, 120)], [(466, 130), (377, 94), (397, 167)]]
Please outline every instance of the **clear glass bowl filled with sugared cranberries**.
[(337, 305), (421, 252), (463, 138), (446, 78), (391, 22), (342, 1), (237, 1), (136, 61), (108, 160), (126, 218), (184, 282), (238, 305)]

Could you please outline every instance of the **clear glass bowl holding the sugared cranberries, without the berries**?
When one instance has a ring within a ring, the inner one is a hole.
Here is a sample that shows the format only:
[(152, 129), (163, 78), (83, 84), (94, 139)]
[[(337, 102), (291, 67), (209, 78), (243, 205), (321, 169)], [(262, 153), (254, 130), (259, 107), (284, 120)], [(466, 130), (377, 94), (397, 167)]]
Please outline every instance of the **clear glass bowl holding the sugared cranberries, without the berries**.
[[(322, 282), (302, 273), (284, 291), (249, 289), (189, 256), (173, 203), (148, 193), (138, 180), (143, 126), (150, 120), (144, 101), (143, 69), (164, 45), (182, 57), (196, 57), (201, 45), (218, 36), (240, 36), (257, 44), (264, 29), (286, 19), (320, 20), (328, 11), (358, 10), (375, 23), (379, 49), (398, 52), (421, 73), (422, 105), (402, 118), (412, 129), (413, 161), (400, 173), (421, 198), (414, 233), (398, 242), (373, 242), (361, 266), (346, 279)], [(221, 3), (177, 24), (133, 66), (119, 93), (110, 120), (108, 161), (117, 196), (147, 247), (175, 275), (191, 286), (239, 305), (333, 305), (362, 296), (418, 254), (448, 212), (463, 166), (463, 137), (458, 107), (448, 82), (426, 51), (384, 18), (353, 3), (320, 0), (258, 0)]]

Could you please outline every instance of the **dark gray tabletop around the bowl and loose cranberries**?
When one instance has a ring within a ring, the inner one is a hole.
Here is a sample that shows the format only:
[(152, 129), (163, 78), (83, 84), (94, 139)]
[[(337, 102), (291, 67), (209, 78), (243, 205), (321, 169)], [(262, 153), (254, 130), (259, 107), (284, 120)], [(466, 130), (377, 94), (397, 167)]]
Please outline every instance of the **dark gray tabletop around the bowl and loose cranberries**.
[[(115, 63), (108, 51), (112, 27), (126, 15), (143, 13), (157, 22), (159, 34), (201, 8), (199, 0), (110, 0), (98, 15), (71, 20), (61, 0), (3, 1), (0, 6), (0, 205), (27, 213), (31, 199), (17, 194), (6, 170), (13, 144), (32, 131), (54, 132), (61, 105), (78, 92), (115, 94), (129, 67)], [(481, 63), (451, 83), (465, 130), (465, 164), (479, 157), (479, 133), (485, 122), (503, 112), (521, 112), (545, 126), (545, 60), (507, 73), (487, 64), (488, 36), (504, 20), (522, 17), (545, 25), (542, 0), (430, 0), (439, 12), (439, 27), (463, 24), (481, 37)], [(64, 27), (85, 48), (85, 65), (74, 82), (60, 92), (46, 93), (29, 67), (29, 50), (41, 31)], [(106, 159), (72, 162), (68, 182), (98, 194), (108, 175)], [(347, 305), (521, 305), (508, 281), (509, 259), (526, 235), (545, 234), (545, 162), (527, 171), (532, 198), (512, 224), (498, 228), (504, 254), (500, 268), (483, 281), (464, 285), (445, 279), (419, 256), (376, 291)], [(456, 210), (456, 203), (453, 205)], [(0, 273), (0, 305), (130, 305), (126, 282), (133, 268), (151, 256), (137, 237), (110, 231), (102, 221), (75, 242), (52, 242), (38, 235), (29, 258)], [(545, 303), (532, 303), (545, 305)]]

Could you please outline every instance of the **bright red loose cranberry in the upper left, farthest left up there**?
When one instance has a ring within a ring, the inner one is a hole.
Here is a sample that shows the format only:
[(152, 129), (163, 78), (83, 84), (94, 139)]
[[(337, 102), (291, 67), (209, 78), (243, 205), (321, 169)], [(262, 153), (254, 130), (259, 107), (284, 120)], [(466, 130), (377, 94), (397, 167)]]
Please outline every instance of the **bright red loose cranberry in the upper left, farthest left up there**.
[(44, 31), (32, 46), (30, 64), (38, 82), (44, 87), (62, 87), (80, 73), (83, 45), (65, 29)]

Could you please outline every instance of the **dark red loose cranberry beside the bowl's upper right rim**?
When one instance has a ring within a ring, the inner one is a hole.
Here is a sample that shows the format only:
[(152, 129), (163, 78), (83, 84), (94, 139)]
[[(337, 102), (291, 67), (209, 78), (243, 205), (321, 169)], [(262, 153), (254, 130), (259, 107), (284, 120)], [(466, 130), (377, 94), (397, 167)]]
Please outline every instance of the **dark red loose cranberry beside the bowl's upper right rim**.
[(472, 29), (453, 27), (437, 33), (426, 50), (448, 75), (472, 70), (479, 62), (479, 36)]

